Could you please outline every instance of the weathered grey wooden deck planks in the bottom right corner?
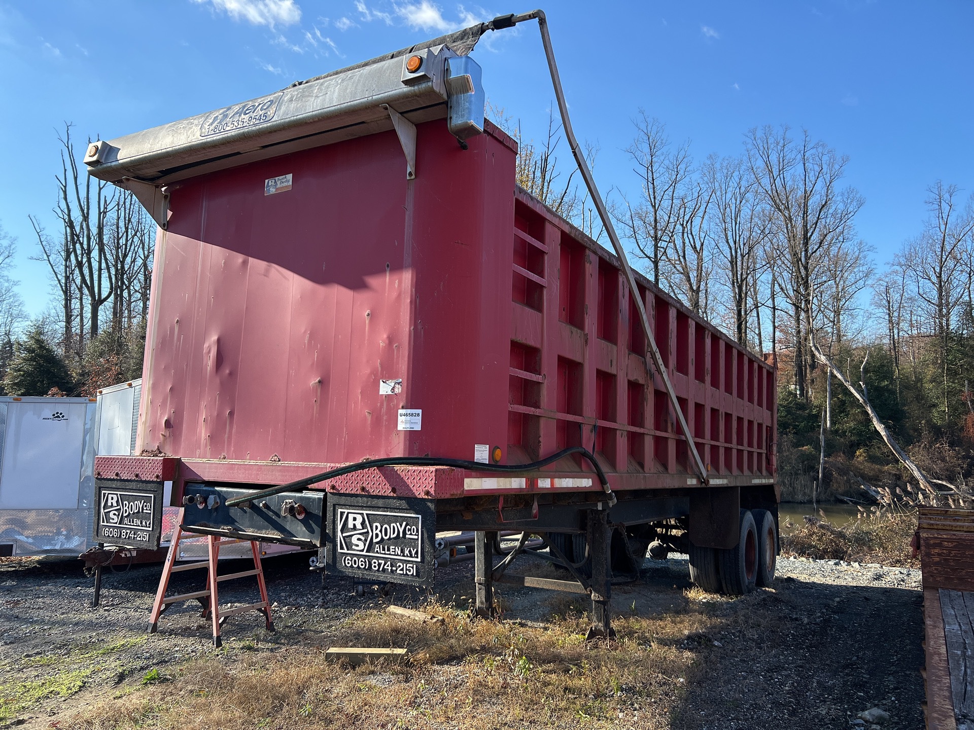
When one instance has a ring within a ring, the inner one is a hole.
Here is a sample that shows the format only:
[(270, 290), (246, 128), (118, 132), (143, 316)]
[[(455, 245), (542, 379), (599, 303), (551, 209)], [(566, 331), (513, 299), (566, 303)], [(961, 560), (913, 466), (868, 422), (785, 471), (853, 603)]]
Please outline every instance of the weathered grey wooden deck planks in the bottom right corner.
[(974, 728), (974, 593), (939, 593), (957, 727)]

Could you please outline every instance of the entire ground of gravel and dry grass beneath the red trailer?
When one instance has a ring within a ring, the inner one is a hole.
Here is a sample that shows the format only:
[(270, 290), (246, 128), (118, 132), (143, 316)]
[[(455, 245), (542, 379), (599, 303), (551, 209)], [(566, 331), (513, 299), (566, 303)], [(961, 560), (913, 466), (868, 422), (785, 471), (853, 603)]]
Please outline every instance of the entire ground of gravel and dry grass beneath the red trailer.
[[(728, 600), (693, 588), (685, 560), (647, 562), (639, 581), (615, 587), (619, 640), (605, 645), (581, 640), (583, 597), (505, 586), (500, 622), (469, 621), (469, 563), (438, 573), (435, 594), (393, 587), (361, 598), (344, 579), (322, 589), (301, 556), (265, 569), (278, 632), (266, 633), (257, 613), (234, 616), (214, 650), (189, 603), (145, 634), (159, 566), (107, 573), (97, 609), (88, 607), (91, 580), (70, 562), (0, 566), (8, 721), (822, 728), (880, 706), (892, 715), (887, 727), (922, 723), (917, 571), (783, 560), (772, 589)], [(202, 574), (192, 572), (174, 575), (172, 590), (196, 589)], [(226, 602), (253, 600), (246, 579), (232, 583)], [(382, 611), (389, 602), (425, 606), (444, 622), (390, 616)], [(330, 645), (401, 646), (412, 661), (350, 669), (324, 661)]]

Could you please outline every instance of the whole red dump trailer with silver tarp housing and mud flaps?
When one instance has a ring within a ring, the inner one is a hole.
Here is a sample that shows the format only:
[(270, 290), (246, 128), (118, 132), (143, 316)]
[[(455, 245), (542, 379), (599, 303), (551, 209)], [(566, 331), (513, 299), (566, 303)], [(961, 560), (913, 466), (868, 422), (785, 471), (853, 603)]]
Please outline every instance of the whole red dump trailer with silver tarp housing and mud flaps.
[[(517, 187), (456, 48), (91, 145), (159, 224), (142, 456), (98, 457), (99, 504), (126, 506), (96, 539), (157, 546), (165, 494), (191, 531), (431, 585), (435, 532), (473, 530), (479, 612), (496, 580), (577, 591), (596, 633), (648, 548), (708, 590), (767, 583), (774, 371)], [(495, 567), (502, 529), (567, 579)]]

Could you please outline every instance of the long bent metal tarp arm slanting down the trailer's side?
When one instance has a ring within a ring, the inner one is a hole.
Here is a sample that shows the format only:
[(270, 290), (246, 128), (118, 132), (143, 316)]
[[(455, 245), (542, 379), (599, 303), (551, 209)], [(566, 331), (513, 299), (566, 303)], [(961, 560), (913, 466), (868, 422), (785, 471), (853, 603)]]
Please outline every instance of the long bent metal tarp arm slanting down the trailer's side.
[(666, 388), (666, 394), (669, 396), (670, 404), (673, 406), (673, 413), (676, 415), (683, 435), (687, 439), (687, 447), (693, 458), (693, 466), (696, 468), (696, 473), (700, 476), (700, 482), (707, 484), (707, 467), (703, 463), (700, 453), (696, 450), (696, 444), (693, 442), (693, 434), (690, 432), (690, 425), (687, 423), (683, 409), (680, 408), (680, 401), (677, 400), (676, 390), (673, 389), (673, 383), (670, 382), (669, 374), (666, 372), (666, 365), (663, 363), (662, 355), (659, 353), (659, 348), (656, 347), (656, 338), (650, 329), (650, 318), (646, 313), (646, 305), (639, 296), (636, 277), (632, 274), (632, 269), (629, 267), (629, 260), (625, 255), (625, 249), (622, 248), (622, 243), (609, 217), (609, 211), (606, 209), (605, 202), (602, 201), (602, 196), (599, 194), (598, 188), (595, 187), (595, 180), (592, 178), (592, 173), (588, 169), (588, 164), (585, 162), (585, 156), (581, 152), (579, 140), (575, 138), (575, 132), (572, 130), (572, 122), (568, 117), (568, 104), (565, 102), (565, 93), (561, 89), (561, 78), (558, 76), (558, 66), (554, 60), (554, 50), (551, 48), (551, 36), (548, 34), (547, 19), (544, 18), (544, 12), (536, 10), (521, 16), (502, 16), (500, 18), (494, 18), (488, 24), (492, 26), (491, 29), (500, 29), (515, 25), (524, 20), (533, 19), (538, 20), (538, 27), (542, 32), (544, 55), (547, 56), (548, 70), (551, 72), (551, 84), (554, 87), (555, 98), (558, 100), (558, 112), (561, 114), (561, 126), (565, 130), (565, 138), (572, 148), (572, 155), (575, 157), (576, 164), (579, 165), (581, 177), (585, 181), (585, 187), (588, 188), (588, 193), (592, 197), (595, 209), (598, 210), (602, 225), (605, 226), (606, 233), (609, 235), (609, 239), (612, 240), (613, 248), (616, 249), (616, 256), (618, 256), (619, 263), (622, 265), (622, 273), (625, 274), (625, 281), (629, 286), (632, 301), (636, 303), (636, 310), (639, 312), (639, 321), (642, 323), (643, 331), (646, 333), (646, 342), (649, 343), (649, 351), (653, 356), (656, 372), (659, 374), (663, 386)]

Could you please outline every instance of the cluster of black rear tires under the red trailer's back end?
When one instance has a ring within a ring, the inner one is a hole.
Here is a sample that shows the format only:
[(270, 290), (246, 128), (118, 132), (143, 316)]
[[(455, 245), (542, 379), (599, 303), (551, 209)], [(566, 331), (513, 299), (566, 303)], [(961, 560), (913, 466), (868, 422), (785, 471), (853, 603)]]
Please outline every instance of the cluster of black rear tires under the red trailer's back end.
[(743, 596), (774, 581), (774, 516), (765, 509), (742, 509), (738, 527), (737, 545), (730, 549), (690, 544), (690, 579), (708, 593)]

